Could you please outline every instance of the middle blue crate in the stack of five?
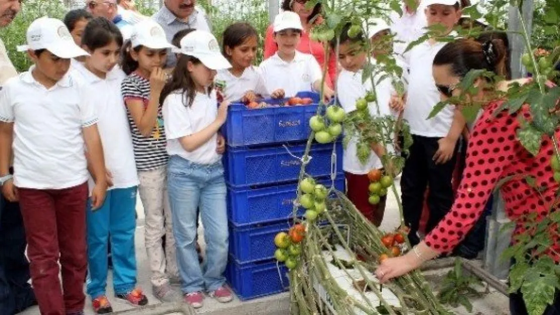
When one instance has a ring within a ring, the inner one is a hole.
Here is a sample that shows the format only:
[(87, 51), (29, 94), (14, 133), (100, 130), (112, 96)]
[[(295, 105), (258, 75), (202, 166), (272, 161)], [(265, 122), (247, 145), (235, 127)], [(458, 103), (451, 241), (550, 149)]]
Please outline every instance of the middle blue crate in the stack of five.
[[(330, 177), (316, 180), (329, 187)], [(336, 189), (344, 191), (344, 173), (337, 174)], [(293, 200), (296, 198), (297, 182), (274, 187), (252, 189), (251, 187), (228, 187), (227, 215), (236, 226), (289, 219), (292, 217)], [(304, 214), (300, 208), (298, 215)]]

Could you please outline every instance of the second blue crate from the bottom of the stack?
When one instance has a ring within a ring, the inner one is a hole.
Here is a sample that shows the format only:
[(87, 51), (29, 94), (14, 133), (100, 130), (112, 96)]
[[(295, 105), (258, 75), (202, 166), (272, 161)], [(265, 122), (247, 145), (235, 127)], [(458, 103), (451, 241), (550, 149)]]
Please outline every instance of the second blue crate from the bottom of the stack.
[(236, 227), (229, 224), (230, 254), (241, 263), (274, 257), (274, 237), (278, 232), (288, 231), (291, 220)]

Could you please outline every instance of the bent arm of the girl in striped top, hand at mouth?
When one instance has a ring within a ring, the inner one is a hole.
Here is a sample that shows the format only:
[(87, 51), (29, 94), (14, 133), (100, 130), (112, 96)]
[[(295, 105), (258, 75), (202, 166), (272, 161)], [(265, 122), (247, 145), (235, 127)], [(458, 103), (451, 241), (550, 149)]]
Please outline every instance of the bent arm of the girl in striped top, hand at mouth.
[[(134, 95), (135, 88), (125, 86), (125, 82), (123, 82), (124, 102), (132, 119), (134, 119), (134, 123), (144, 137), (150, 137), (153, 128), (156, 126), (161, 90), (163, 90), (166, 81), (167, 75), (164, 70), (156, 68), (152, 71), (150, 75), (150, 100), (146, 109), (144, 109), (143, 100), (139, 98), (140, 95)], [(139, 94), (139, 91), (137, 93)]]

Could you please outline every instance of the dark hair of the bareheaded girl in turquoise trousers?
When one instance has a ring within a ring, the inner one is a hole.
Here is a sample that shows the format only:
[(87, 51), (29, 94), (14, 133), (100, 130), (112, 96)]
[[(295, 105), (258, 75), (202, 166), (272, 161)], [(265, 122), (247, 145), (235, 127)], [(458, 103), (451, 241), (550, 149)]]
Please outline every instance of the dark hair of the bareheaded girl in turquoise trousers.
[(120, 34), (118, 27), (104, 17), (96, 17), (89, 21), (86, 29), (83, 30), (82, 45), (93, 51), (97, 48), (105, 47), (112, 41), (123, 45), (123, 35)]

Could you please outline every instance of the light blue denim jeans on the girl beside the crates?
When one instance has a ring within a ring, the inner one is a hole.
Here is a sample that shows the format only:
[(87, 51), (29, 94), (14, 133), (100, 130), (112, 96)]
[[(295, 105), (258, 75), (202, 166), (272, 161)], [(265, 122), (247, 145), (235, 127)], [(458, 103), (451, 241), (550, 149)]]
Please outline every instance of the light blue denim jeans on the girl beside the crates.
[[(226, 183), (221, 162), (197, 164), (171, 156), (167, 167), (167, 189), (173, 215), (173, 233), (177, 247), (183, 293), (213, 291), (225, 283), (228, 232)], [(206, 263), (198, 262), (195, 249), (197, 208), (204, 225)]]

